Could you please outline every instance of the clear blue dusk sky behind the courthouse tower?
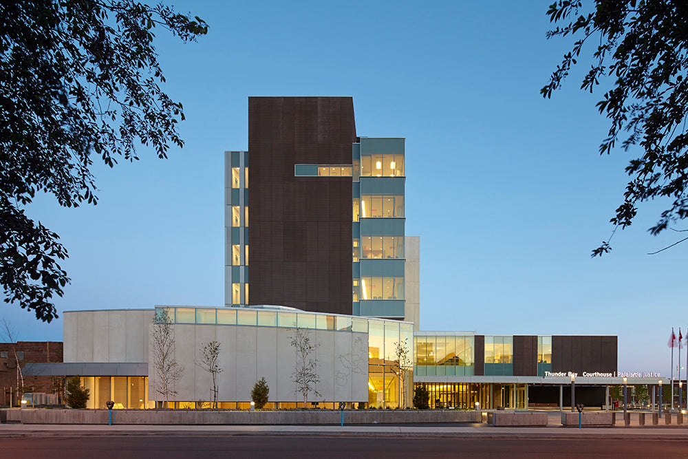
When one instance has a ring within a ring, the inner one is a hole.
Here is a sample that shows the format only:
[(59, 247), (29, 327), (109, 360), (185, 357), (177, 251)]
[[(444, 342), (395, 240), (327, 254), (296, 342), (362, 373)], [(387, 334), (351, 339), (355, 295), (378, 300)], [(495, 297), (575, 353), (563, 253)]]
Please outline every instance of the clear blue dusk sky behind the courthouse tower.
[[(247, 148), (248, 96), (353, 96), (358, 135), (407, 139), (422, 330), (618, 334), (619, 370), (668, 376), (688, 244), (646, 255), (678, 240), (647, 233), (656, 202), (590, 258), (633, 153), (597, 153), (607, 122), (578, 89), (585, 63), (539, 96), (570, 45), (545, 38), (550, 1), (176, 2), (210, 25), (186, 45), (156, 32), (184, 149), (98, 164), (97, 206), (30, 207), (69, 250), (58, 311), (222, 305), (223, 152)], [(62, 339), (61, 319), (1, 308), (19, 339)]]

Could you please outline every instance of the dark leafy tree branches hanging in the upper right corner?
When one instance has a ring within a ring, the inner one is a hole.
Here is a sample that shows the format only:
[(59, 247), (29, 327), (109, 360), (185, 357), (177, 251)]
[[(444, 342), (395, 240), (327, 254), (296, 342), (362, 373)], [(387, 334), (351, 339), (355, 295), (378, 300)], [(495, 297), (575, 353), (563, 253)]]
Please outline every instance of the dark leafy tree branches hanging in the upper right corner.
[(630, 181), (610, 220), (614, 230), (592, 250), (594, 257), (611, 250), (614, 232), (630, 226), (642, 202), (663, 198), (668, 204), (649, 228), (652, 235), (688, 217), (688, 3), (594, 0), (584, 6), (559, 0), (547, 14), (561, 24), (548, 38), (572, 36), (575, 42), (541, 94), (549, 98), (573, 65), (591, 61), (581, 89), (604, 88), (597, 109), (610, 120), (599, 151), (610, 153), (620, 142), (637, 155), (625, 169)]

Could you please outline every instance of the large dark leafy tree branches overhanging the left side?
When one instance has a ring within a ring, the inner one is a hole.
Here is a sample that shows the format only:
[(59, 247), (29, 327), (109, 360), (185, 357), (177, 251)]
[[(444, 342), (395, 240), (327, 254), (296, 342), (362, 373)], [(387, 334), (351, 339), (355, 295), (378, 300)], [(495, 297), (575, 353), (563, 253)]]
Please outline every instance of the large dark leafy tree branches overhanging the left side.
[(94, 160), (181, 147), (182, 104), (160, 89), (153, 32), (190, 41), (208, 26), (136, 0), (3, 1), (0, 17), (0, 284), (6, 302), (50, 322), (67, 250), (26, 206), (41, 192), (96, 204)]

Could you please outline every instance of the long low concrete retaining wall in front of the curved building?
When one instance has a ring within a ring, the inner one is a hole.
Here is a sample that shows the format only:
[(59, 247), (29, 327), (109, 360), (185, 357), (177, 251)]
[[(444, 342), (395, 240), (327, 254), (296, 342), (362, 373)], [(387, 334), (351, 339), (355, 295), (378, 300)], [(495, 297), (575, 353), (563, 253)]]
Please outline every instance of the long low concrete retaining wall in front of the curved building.
[[(24, 424), (107, 424), (107, 409), (23, 409)], [(156, 409), (113, 409), (113, 424), (137, 425), (279, 425), (325, 424), (341, 422), (338, 411), (182, 411)], [(345, 424), (396, 423), (481, 423), (481, 412), (462, 411), (345, 411)]]

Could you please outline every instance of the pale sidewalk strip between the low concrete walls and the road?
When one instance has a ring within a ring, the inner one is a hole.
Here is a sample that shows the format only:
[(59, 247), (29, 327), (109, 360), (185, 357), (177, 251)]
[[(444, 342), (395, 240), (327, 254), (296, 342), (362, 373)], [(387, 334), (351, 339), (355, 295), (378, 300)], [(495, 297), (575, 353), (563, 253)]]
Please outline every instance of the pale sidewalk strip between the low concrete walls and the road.
[(22, 425), (1, 424), (0, 438), (22, 436), (336, 436), (516, 439), (686, 440), (688, 427), (489, 427), (487, 425)]

